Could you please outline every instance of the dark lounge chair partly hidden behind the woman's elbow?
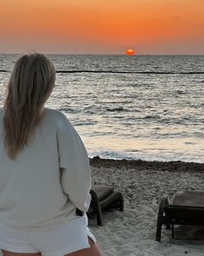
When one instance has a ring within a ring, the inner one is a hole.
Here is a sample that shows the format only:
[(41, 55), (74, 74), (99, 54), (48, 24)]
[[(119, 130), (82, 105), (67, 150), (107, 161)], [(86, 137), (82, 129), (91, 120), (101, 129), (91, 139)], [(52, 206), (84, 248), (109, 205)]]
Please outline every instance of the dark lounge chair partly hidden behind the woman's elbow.
[[(97, 216), (98, 226), (103, 226), (102, 210), (117, 208), (122, 212), (124, 211), (123, 194), (115, 191), (113, 187), (105, 185), (92, 185), (90, 194), (92, 195), (92, 201), (87, 215), (90, 216), (91, 214), (95, 213)], [(80, 209), (76, 209), (76, 213), (80, 216), (83, 215)]]

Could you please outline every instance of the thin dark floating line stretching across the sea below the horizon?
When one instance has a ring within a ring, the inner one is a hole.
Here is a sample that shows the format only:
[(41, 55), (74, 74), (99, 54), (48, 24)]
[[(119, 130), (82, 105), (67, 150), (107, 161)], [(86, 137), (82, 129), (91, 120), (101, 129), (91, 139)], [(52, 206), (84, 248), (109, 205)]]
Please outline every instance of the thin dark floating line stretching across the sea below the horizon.
[[(10, 73), (9, 70), (0, 69), (0, 72)], [(188, 71), (188, 72), (174, 72), (174, 71), (118, 71), (118, 70), (56, 70), (56, 73), (105, 73), (105, 74), (157, 74), (157, 75), (196, 75), (204, 74), (204, 71)]]

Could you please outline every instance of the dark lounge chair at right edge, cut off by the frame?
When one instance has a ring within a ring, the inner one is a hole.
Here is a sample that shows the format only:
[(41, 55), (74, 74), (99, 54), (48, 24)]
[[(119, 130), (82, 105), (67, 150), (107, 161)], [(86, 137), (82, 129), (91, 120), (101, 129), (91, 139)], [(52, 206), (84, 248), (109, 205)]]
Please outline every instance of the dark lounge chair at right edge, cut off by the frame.
[(169, 205), (167, 197), (161, 200), (156, 226), (156, 241), (161, 242), (163, 224), (172, 230), (174, 225), (204, 226), (204, 191), (188, 190), (175, 194), (173, 203)]

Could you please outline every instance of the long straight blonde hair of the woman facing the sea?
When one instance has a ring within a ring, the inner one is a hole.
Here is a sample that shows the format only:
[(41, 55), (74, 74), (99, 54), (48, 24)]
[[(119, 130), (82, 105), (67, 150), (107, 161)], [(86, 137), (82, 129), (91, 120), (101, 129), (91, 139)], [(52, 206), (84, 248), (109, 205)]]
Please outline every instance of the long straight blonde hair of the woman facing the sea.
[(47, 56), (34, 53), (17, 60), (4, 102), (4, 144), (11, 159), (16, 159), (41, 122), (54, 81), (54, 65)]

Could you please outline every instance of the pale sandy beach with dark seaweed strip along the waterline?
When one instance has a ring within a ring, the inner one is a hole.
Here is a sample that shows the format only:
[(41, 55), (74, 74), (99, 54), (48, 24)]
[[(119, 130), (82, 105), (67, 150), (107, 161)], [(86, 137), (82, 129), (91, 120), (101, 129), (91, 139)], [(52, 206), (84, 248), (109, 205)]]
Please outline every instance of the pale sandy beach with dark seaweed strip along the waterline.
[(91, 161), (92, 184), (114, 186), (124, 195), (124, 212), (103, 213), (104, 226), (89, 220), (104, 256), (204, 255), (204, 228), (175, 226), (175, 239), (163, 226), (162, 242), (155, 241), (158, 206), (178, 191), (204, 190), (204, 164), (182, 161)]

